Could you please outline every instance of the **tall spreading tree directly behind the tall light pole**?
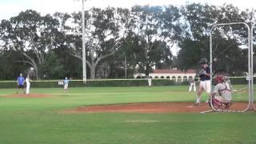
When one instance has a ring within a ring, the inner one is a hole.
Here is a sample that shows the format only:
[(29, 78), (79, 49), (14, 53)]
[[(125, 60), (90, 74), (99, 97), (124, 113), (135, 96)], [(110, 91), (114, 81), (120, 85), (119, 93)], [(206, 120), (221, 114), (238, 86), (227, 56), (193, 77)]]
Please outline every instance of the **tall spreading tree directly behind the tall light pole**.
[[(98, 64), (120, 47), (120, 27), (115, 13), (114, 8), (92, 8), (86, 11), (86, 64), (90, 68), (91, 79), (95, 78)], [(82, 60), (82, 37), (81, 32), (78, 33), (81, 31), (81, 19), (81, 14), (73, 14), (71, 21), (74, 27), (69, 35), (69, 46), (74, 57)]]

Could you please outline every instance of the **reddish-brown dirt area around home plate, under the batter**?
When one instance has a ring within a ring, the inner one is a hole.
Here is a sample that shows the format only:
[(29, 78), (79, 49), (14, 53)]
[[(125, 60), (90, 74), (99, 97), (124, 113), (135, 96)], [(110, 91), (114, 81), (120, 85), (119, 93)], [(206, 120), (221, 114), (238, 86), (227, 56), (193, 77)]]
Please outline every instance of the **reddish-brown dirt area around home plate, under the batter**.
[[(246, 103), (234, 103), (230, 110), (244, 110)], [(133, 103), (106, 106), (82, 106), (66, 113), (200, 113), (211, 110), (203, 103), (194, 106), (192, 102), (161, 102), (161, 103)]]

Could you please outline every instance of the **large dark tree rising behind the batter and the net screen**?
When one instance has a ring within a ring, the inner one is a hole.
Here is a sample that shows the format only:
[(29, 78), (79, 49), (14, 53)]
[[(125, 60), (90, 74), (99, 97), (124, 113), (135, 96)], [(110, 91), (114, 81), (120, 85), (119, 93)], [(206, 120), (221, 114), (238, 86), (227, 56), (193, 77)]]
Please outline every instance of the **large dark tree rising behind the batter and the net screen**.
[[(179, 42), (181, 50), (178, 53), (178, 66), (181, 69), (195, 68), (200, 58), (209, 58), (210, 56), (210, 29), (214, 24), (227, 22), (245, 22), (246, 17), (242, 16), (245, 12), (238, 10), (232, 5), (209, 6), (201, 4), (188, 4), (182, 7), (182, 15), (186, 25), (186, 34)], [(237, 58), (246, 58), (242, 47), (246, 46), (247, 40), (246, 26), (220, 26), (213, 31), (213, 57), (218, 58), (219, 62), (236, 63), (241, 67), (241, 62), (234, 60)], [(240, 54), (240, 55), (239, 55)], [(220, 60), (222, 59), (222, 60)], [(224, 60), (225, 59), (225, 60)], [(230, 63), (227, 72), (237, 70), (238, 67)], [(225, 65), (218, 68), (224, 70)], [(244, 67), (244, 66), (243, 66)], [(242, 68), (242, 70), (245, 70)], [(241, 71), (241, 70), (240, 70)]]

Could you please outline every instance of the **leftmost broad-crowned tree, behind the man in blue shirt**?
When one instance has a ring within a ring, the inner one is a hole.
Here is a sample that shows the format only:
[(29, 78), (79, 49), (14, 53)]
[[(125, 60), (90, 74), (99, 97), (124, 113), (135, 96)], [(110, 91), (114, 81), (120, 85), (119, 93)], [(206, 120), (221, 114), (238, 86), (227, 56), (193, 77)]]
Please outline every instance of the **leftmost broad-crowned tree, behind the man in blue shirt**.
[(57, 26), (58, 21), (49, 14), (41, 16), (34, 10), (26, 10), (2, 21), (2, 46), (22, 54), (23, 58), (17, 62), (33, 66), (39, 78), (39, 66), (45, 62), (47, 51), (58, 45), (55, 40)]

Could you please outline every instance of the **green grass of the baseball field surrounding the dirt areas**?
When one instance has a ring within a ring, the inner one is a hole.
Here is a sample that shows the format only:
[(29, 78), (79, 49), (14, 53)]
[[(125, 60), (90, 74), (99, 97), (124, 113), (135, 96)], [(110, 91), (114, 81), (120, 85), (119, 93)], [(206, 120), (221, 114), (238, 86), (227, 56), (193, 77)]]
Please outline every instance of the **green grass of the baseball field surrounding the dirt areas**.
[[(185, 86), (32, 89), (50, 98), (8, 98), (1, 89), (0, 143), (254, 143), (256, 113), (63, 114), (77, 106), (194, 102)], [(206, 99), (206, 95), (204, 96)]]

